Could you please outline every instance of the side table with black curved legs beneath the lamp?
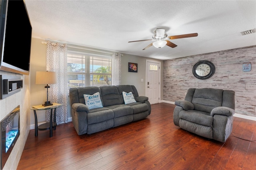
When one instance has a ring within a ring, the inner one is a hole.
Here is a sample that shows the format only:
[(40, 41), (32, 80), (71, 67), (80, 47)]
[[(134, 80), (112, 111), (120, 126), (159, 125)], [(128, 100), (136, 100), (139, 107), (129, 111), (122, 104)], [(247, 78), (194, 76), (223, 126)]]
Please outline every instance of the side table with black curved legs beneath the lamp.
[[(51, 106), (42, 106), (42, 105), (37, 105), (37, 106), (32, 106), (30, 109), (34, 110), (34, 115), (35, 115), (35, 136), (38, 136), (38, 130), (47, 130), (50, 129), (50, 137), (52, 137), (52, 128), (54, 128), (54, 130), (56, 130), (56, 108), (61, 107), (62, 104), (59, 103), (52, 103), (53, 105)], [(44, 123), (42, 125), (37, 124), (37, 116), (36, 116), (36, 111), (39, 110), (48, 110), (51, 109), (51, 113), (50, 113), (50, 122), (49, 123)], [(54, 120), (52, 121), (52, 113), (54, 110)]]

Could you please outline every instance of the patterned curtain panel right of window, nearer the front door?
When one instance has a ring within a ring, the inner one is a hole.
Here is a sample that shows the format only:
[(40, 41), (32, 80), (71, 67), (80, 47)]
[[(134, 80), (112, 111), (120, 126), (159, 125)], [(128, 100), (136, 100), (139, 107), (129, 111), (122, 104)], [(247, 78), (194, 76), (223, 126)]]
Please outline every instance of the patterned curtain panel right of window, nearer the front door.
[(111, 85), (121, 85), (121, 67), (121, 53), (113, 53)]

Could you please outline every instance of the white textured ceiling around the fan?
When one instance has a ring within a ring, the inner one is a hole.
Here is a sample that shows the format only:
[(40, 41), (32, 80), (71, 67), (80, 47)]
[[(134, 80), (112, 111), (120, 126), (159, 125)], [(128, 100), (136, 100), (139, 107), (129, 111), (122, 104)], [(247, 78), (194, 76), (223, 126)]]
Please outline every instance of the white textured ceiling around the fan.
[[(172, 59), (256, 45), (255, 0), (25, 0), (32, 37), (105, 49), (155, 59)], [(175, 48), (154, 46), (156, 28), (168, 36), (198, 33), (170, 40)]]

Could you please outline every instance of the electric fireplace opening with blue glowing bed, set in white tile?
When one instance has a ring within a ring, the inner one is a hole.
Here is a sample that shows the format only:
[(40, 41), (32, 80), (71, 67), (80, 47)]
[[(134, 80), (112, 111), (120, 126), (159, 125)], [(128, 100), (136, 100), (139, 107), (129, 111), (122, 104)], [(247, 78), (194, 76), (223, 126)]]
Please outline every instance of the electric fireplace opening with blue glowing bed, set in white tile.
[(20, 136), (20, 105), (1, 121), (1, 170)]

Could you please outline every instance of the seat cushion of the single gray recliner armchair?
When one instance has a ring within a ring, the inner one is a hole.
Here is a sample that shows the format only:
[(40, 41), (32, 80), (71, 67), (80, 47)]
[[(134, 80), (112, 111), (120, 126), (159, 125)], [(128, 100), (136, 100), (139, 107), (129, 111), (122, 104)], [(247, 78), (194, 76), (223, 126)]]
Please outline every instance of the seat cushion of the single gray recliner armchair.
[(212, 127), (213, 122), (213, 117), (210, 115), (210, 113), (194, 110), (180, 111), (180, 119), (208, 127)]

